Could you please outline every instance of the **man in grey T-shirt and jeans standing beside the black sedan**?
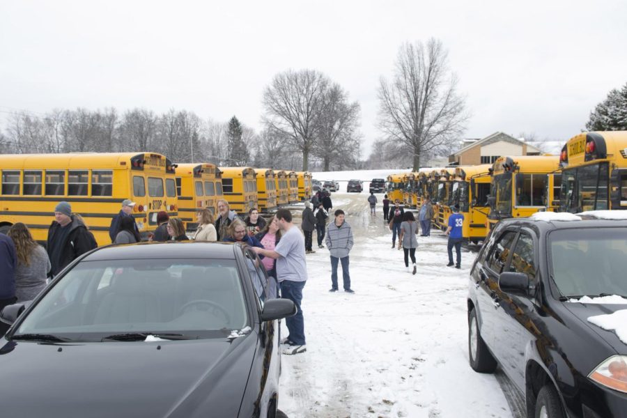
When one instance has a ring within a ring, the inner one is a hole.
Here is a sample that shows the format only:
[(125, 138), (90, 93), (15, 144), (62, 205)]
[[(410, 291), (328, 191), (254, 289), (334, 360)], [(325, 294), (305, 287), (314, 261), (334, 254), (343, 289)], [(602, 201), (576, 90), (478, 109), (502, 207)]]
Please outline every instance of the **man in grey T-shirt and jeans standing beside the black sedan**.
[(259, 247), (252, 247), (252, 249), (257, 254), (277, 259), (277, 279), (281, 286), (281, 297), (291, 300), (296, 305), (296, 315), (285, 320), (290, 334), (281, 341), (289, 346), (283, 350), (283, 354), (293, 355), (307, 351), (301, 308), (302, 289), (307, 283), (304, 238), (300, 229), (292, 223), (292, 214), (289, 210), (279, 209), (274, 216), (279, 222), (281, 241), (274, 249)]

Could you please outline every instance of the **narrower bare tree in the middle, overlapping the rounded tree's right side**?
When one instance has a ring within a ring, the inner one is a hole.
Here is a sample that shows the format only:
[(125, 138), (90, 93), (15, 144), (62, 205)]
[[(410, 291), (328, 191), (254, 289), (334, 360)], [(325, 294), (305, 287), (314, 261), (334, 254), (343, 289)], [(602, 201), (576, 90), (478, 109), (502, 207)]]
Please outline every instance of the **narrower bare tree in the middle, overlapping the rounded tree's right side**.
[(348, 94), (339, 86), (333, 84), (327, 88), (323, 100), (323, 111), (317, 123), (317, 136), (314, 146), (314, 155), (323, 160), (324, 171), (330, 170), (331, 162), (346, 157), (353, 159), (355, 146), (359, 152), (359, 103), (348, 102)]

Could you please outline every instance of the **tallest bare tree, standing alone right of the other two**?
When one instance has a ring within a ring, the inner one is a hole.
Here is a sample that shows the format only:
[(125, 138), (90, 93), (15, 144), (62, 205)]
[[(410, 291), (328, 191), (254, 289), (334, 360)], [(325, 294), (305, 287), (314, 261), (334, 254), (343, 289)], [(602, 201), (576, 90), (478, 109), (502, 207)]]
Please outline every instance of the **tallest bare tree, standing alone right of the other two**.
[(448, 70), (440, 40), (426, 46), (405, 43), (398, 51), (391, 83), (380, 79), (379, 127), (391, 141), (407, 146), (417, 170), (424, 153), (449, 144), (464, 130), (464, 100)]

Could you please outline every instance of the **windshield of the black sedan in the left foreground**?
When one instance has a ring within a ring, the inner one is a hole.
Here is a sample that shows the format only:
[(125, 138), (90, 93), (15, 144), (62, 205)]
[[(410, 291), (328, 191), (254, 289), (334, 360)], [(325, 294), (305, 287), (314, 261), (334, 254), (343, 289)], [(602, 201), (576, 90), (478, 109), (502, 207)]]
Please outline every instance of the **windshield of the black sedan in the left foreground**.
[(14, 336), (198, 339), (228, 335), (246, 325), (233, 260), (85, 261), (50, 289)]

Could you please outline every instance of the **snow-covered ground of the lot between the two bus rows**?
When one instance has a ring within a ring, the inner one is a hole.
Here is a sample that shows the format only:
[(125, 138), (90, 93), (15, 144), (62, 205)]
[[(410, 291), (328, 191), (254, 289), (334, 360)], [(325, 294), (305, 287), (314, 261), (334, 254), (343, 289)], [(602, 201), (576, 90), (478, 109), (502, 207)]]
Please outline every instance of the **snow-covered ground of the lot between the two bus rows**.
[[(512, 417), (496, 378), (475, 373), (467, 360), (465, 297), (476, 248), (463, 249), (461, 270), (447, 268), (446, 238), (432, 229), (419, 237), (414, 276), (403, 251), (391, 248), (380, 205), (369, 215), (366, 194), (332, 194), (355, 234), (355, 294), (328, 292), (329, 252), (316, 248), (314, 233), (302, 304), (307, 353), (282, 357), (279, 408), (290, 418)], [(300, 218), (294, 222), (300, 226)]]

